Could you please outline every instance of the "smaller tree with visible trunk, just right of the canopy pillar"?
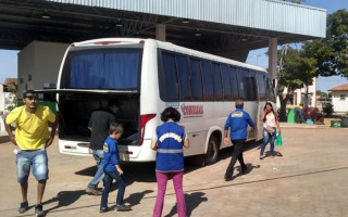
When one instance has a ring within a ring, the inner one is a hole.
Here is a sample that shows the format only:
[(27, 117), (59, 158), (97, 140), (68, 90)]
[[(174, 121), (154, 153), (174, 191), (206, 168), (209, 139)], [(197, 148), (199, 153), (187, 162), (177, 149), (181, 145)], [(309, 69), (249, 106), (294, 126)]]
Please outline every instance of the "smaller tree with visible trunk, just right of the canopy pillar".
[[(307, 58), (303, 50), (297, 50), (291, 47), (284, 47), (278, 51), (278, 97), (281, 101), (282, 122), (286, 120), (286, 103), (293, 92), (303, 86), (312, 85), (315, 77), (316, 61), (313, 58)], [(284, 89), (287, 93), (284, 95)]]

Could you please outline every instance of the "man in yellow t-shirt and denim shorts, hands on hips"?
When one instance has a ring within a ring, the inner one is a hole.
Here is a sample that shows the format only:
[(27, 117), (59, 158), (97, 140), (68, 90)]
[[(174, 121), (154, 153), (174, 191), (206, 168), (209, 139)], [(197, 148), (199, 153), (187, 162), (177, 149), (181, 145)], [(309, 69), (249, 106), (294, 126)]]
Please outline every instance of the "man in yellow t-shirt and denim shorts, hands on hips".
[[(45, 216), (42, 196), (48, 179), (48, 157), (46, 149), (53, 142), (58, 122), (48, 106), (38, 105), (38, 95), (33, 90), (23, 94), (24, 105), (10, 112), (5, 118), (5, 128), (14, 145), (16, 154), (17, 181), (21, 184), (22, 203), (18, 213), (25, 213), (28, 206), (27, 191), (30, 167), (37, 183), (36, 216)], [(49, 133), (48, 123), (53, 123)], [(11, 124), (15, 123), (15, 136)]]

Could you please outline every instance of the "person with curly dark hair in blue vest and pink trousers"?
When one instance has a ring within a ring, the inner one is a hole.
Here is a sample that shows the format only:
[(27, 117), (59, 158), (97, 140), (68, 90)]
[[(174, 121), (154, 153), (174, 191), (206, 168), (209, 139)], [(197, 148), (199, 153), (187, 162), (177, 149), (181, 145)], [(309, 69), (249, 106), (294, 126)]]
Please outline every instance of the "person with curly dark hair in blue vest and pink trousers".
[(183, 192), (184, 176), (184, 150), (189, 148), (187, 135), (182, 126), (181, 113), (174, 107), (166, 107), (161, 114), (163, 125), (157, 127), (153, 133), (151, 149), (157, 151), (156, 178), (158, 193), (153, 208), (153, 217), (161, 217), (169, 178), (173, 179), (176, 194), (176, 207), (178, 217), (186, 217), (186, 203)]

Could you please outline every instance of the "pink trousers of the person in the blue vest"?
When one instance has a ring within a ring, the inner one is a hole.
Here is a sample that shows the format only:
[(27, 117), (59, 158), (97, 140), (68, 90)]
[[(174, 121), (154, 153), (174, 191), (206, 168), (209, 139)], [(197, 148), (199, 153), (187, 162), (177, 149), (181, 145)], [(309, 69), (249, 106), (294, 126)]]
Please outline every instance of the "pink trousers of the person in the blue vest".
[(153, 217), (161, 217), (164, 195), (166, 190), (166, 181), (170, 177), (173, 179), (173, 186), (176, 195), (176, 210), (178, 217), (186, 217), (186, 203), (183, 191), (183, 176), (184, 171), (172, 171), (172, 173), (156, 173), (158, 193), (156, 197), (156, 204), (153, 208)]

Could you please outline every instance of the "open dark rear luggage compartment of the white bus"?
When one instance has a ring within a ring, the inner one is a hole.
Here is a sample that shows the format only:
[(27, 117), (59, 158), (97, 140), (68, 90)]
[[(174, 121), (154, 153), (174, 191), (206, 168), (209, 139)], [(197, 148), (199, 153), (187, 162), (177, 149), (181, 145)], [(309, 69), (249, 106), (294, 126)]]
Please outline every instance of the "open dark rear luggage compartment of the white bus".
[(124, 133), (119, 141), (120, 145), (138, 144), (139, 138), (139, 95), (112, 95), (74, 93), (60, 95), (60, 125), (59, 137), (63, 140), (78, 140), (89, 142), (90, 130), (88, 123), (94, 111), (108, 106), (113, 98), (120, 104), (115, 114), (116, 123), (124, 127)]

